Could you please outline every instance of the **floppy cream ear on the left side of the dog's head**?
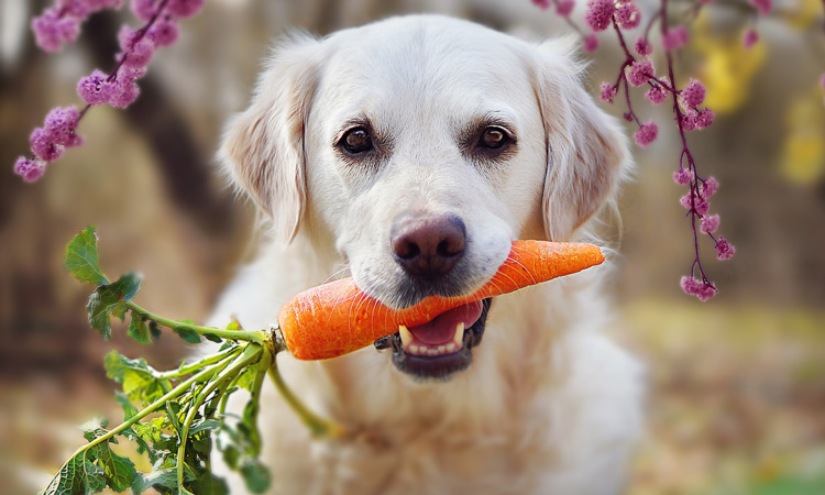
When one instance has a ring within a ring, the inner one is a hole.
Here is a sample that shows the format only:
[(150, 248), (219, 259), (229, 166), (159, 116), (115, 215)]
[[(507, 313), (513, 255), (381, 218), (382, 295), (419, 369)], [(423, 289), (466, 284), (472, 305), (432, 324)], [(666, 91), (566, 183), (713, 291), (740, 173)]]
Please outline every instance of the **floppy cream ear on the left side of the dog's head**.
[(219, 158), (232, 183), (290, 241), (306, 209), (305, 122), (319, 72), (320, 43), (292, 35), (275, 47), (250, 107), (224, 132)]

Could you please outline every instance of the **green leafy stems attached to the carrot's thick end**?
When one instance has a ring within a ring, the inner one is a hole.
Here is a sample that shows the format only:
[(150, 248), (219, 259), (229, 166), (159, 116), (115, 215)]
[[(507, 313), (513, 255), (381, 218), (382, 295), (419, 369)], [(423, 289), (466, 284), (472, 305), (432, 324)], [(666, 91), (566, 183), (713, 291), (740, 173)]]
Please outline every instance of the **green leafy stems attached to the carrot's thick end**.
[[(263, 377), (273, 359), (273, 345), (263, 332), (243, 332), (237, 324), (229, 330), (199, 327), (153, 315), (134, 304), (141, 287), (140, 275), (129, 273), (111, 283), (98, 264), (97, 237), (87, 228), (66, 248), (65, 265), (72, 276), (96, 286), (87, 304), (90, 326), (105, 339), (112, 334), (111, 319), (125, 321), (127, 334), (147, 344), (167, 328), (186, 342), (201, 337), (223, 342), (220, 351), (177, 370), (161, 372), (144, 359), (130, 359), (117, 351), (107, 354), (107, 375), (121, 385), (116, 399), (123, 409), (123, 422), (113, 429), (105, 418), (82, 426), (88, 443), (61, 468), (44, 495), (87, 495), (109, 488), (131, 490), (135, 495), (150, 488), (161, 494), (223, 495), (226, 483), (210, 471), (212, 438), (255, 493), (270, 485), (268, 470), (260, 463), (257, 399)], [(239, 386), (240, 384), (240, 386)], [(233, 392), (251, 392), (250, 404), (240, 419), (226, 414), (227, 398)], [(138, 455), (152, 464), (144, 473), (135, 462), (116, 453), (120, 440), (136, 446)], [(229, 453), (226, 451), (229, 450)]]

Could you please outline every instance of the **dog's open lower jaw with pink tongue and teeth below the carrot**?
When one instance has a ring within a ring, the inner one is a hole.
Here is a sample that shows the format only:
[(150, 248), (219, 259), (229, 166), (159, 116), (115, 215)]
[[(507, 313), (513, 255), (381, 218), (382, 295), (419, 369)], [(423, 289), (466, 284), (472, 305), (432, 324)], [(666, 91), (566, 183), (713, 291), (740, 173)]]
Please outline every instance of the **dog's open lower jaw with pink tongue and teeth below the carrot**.
[(376, 340), (375, 348), (392, 349), (393, 364), (403, 373), (420, 380), (448, 380), (470, 366), (492, 301), (470, 302), (427, 323), (399, 327), (398, 332)]

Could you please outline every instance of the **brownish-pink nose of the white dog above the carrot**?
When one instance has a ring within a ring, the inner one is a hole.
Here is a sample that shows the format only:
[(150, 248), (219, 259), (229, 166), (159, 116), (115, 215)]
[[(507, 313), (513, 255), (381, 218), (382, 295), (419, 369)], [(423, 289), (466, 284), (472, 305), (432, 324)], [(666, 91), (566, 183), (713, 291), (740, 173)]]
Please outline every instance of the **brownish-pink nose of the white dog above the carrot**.
[(396, 262), (410, 275), (432, 278), (450, 272), (464, 255), (466, 229), (458, 217), (407, 218), (391, 232)]

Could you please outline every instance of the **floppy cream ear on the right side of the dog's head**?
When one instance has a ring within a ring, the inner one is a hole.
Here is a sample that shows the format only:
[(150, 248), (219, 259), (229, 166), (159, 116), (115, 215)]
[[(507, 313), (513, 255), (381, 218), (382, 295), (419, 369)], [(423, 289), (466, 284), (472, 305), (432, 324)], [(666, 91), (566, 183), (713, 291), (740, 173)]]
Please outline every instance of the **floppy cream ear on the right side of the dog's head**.
[(572, 233), (615, 199), (629, 165), (627, 141), (617, 121), (582, 88), (584, 66), (575, 41), (539, 46), (537, 96), (548, 146), (542, 198), (544, 233), (554, 241)]

